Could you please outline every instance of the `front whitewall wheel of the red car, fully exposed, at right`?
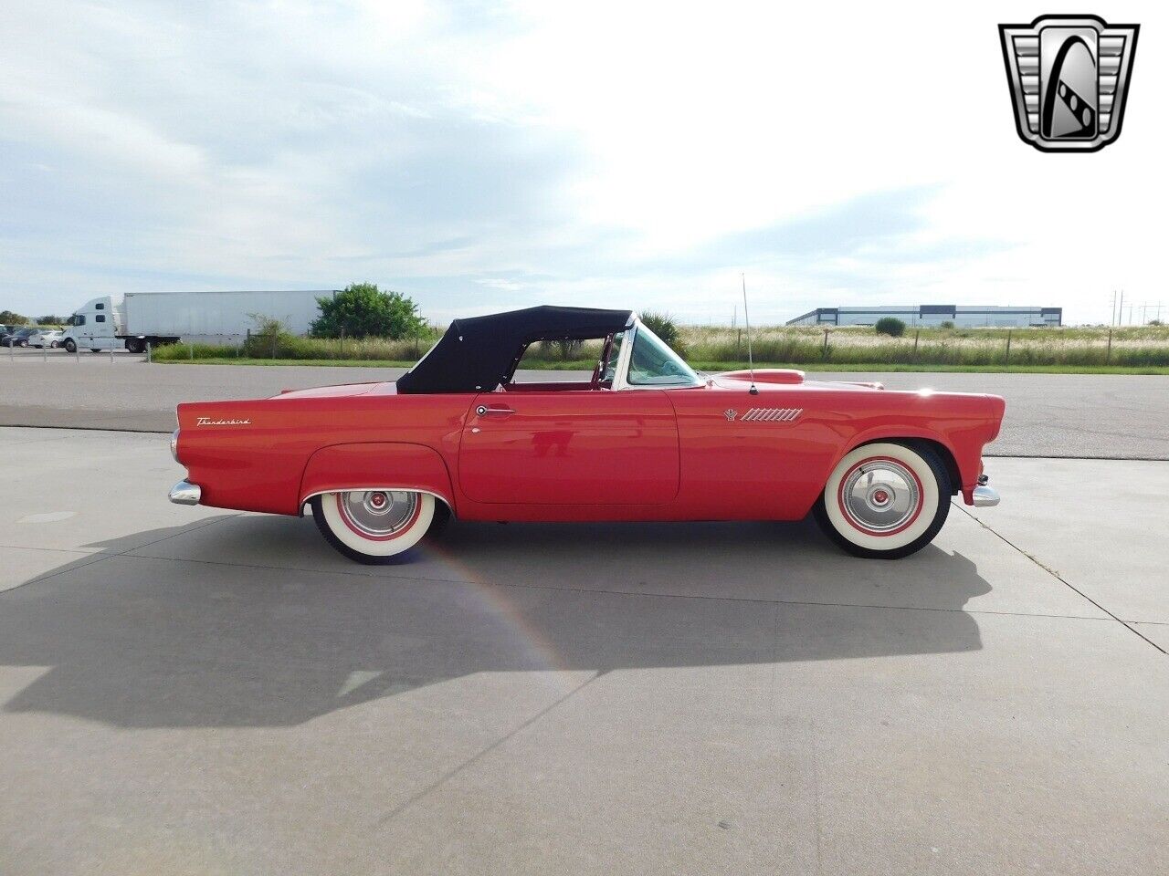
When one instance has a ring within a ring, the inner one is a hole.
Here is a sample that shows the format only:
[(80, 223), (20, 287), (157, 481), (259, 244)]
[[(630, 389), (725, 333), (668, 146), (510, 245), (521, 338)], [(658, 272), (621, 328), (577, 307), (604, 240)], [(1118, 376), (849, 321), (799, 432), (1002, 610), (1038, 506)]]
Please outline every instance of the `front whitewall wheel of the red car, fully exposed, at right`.
[(897, 559), (933, 541), (949, 505), (949, 475), (936, 454), (880, 442), (857, 447), (832, 470), (816, 521), (855, 556)]

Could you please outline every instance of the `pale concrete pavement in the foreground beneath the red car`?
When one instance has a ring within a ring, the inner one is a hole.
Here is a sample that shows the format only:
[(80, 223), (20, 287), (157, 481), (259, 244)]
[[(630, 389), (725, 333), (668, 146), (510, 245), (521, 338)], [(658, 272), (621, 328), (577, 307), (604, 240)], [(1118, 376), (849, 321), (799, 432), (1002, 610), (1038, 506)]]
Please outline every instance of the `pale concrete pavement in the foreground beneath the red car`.
[(456, 522), (369, 568), (179, 477), (0, 429), (5, 876), (1169, 872), (1167, 463), (998, 460), (898, 562)]

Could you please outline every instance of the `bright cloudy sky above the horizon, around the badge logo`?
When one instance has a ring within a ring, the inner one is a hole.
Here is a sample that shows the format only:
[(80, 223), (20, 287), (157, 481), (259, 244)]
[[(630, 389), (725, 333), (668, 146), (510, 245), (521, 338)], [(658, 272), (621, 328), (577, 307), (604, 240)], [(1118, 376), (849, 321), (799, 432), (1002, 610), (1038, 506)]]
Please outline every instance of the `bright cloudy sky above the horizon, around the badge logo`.
[[(1169, 12), (1120, 139), (1015, 132), (1026, 4), (0, 5), (0, 310), (373, 281), (562, 304), (1164, 307)], [(1153, 308), (1146, 312), (1153, 315)], [(1128, 314), (1126, 313), (1126, 319)]]

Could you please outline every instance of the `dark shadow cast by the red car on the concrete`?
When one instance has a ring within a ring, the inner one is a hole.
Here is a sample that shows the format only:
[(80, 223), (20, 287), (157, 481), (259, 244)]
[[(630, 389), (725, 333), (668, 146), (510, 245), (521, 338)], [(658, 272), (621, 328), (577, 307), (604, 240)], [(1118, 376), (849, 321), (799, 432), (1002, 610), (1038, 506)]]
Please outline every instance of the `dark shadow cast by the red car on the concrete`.
[[(0, 663), (43, 668), (0, 708), (289, 726), (477, 673), (728, 683), (784, 661), (978, 649), (963, 606), (990, 591), (962, 554), (858, 561), (807, 524), (462, 524), (414, 564), (373, 569), (311, 528), (242, 516), (136, 533), (0, 593)], [(141, 556), (164, 543), (166, 558)], [(286, 565), (249, 566), (244, 545)]]

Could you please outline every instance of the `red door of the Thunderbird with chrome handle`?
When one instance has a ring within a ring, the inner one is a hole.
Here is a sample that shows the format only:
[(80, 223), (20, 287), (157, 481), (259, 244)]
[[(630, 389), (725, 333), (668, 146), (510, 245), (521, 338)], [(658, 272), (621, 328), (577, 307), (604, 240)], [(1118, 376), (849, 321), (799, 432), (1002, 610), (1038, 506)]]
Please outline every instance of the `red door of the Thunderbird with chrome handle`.
[(660, 505), (678, 478), (677, 418), (656, 390), (483, 392), (458, 454), (477, 502)]

